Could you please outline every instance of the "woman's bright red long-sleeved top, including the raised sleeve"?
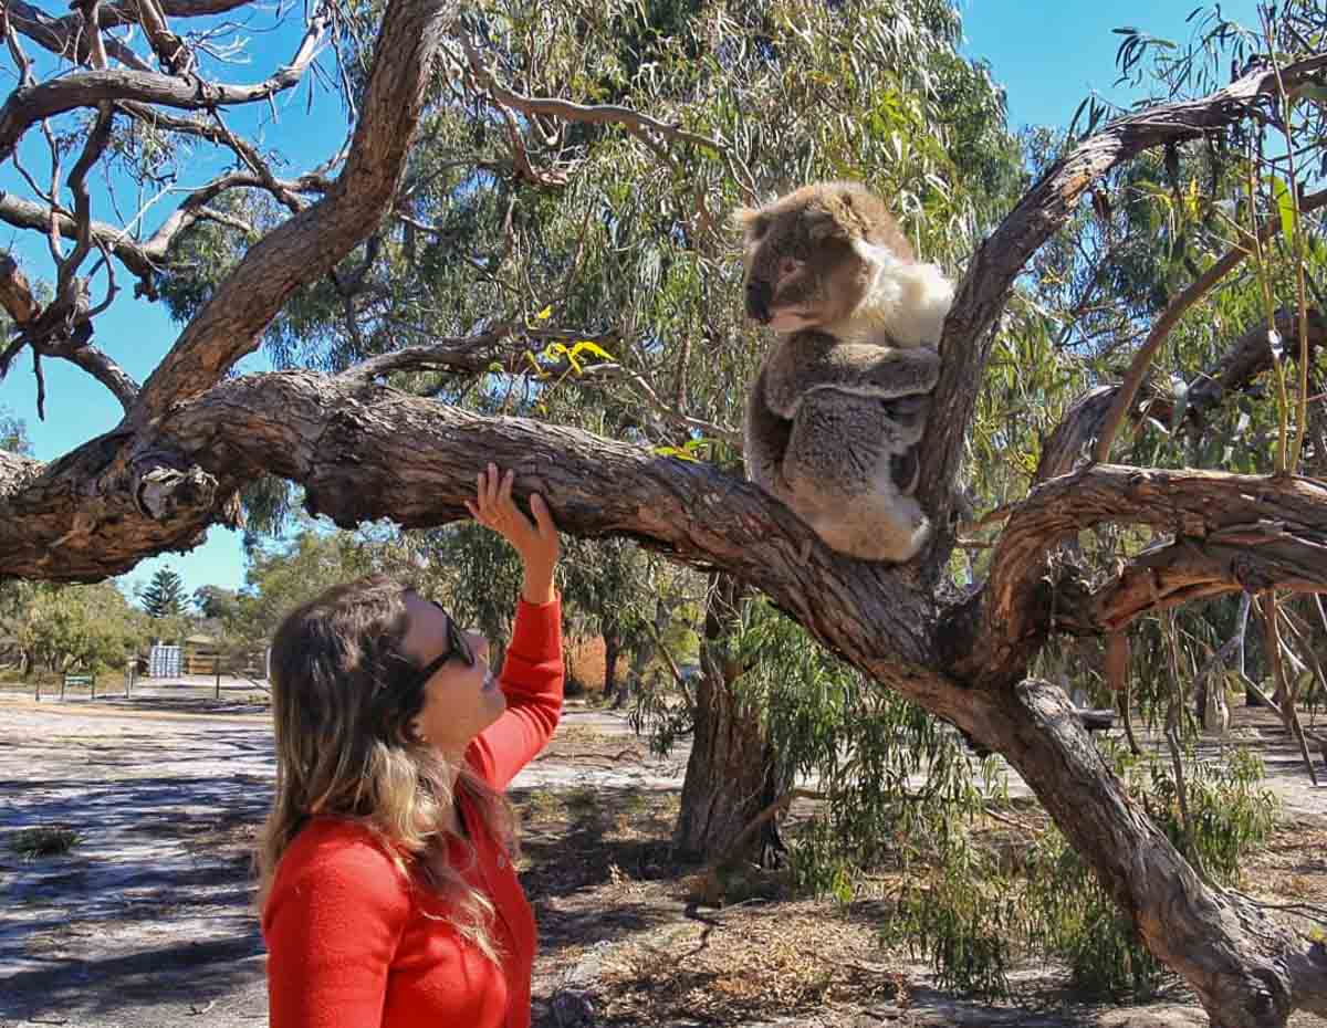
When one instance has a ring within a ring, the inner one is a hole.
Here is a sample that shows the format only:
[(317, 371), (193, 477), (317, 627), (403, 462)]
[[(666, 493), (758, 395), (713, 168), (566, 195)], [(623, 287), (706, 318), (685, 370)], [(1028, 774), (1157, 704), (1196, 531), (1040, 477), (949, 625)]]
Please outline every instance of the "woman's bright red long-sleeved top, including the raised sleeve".
[[(559, 601), (520, 602), (502, 670), (507, 711), (466, 751), (504, 789), (544, 747), (563, 706)], [(464, 799), (475, 862), (454, 866), (496, 907), (495, 966), (407, 881), (366, 828), (316, 817), (281, 856), (263, 907), (271, 1028), (529, 1028), (535, 917), (511, 858)]]

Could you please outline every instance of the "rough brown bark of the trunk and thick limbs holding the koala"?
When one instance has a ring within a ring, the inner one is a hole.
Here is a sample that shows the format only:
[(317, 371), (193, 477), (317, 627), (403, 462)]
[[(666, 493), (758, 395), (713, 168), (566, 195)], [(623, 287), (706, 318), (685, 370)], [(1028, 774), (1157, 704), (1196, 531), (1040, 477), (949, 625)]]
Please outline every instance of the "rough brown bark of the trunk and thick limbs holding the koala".
[[(208, 525), (234, 521), (236, 489), (264, 474), (301, 484), (309, 508), (341, 525), (377, 517), (438, 525), (466, 516), (476, 466), (496, 460), (516, 471), (519, 496), (537, 489), (548, 499), (564, 531), (632, 536), (764, 590), (882, 688), (1003, 753), (1214, 1025), (1278, 1028), (1295, 1008), (1327, 1015), (1327, 947), (1198, 878), (1128, 799), (1063, 692), (1024, 680), (1052, 631), (1116, 633), (1158, 605), (1223, 592), (1327, 589), (1327, 488), (1289, 476), (1066, 467), (1013, 511), (983, 584), (957, 601), (936, 590), (991, 328), (1016, 276), (1096, 179), (1147, 147), (1246, 118), (1273, 92), (1274, 73), (1107, 126), (1054, 166), (982, 245), (945, 328), (934, 405), (946, 417), (932, 420), (920, 452), (932, 470), (920, 499), (941, 528), (921, 561), (889, 568), (827, 550), (758, 488), (705, 464), (552, 424), (480, 418), (362, 371), (226, 378), (291, 293), (325, 275), (389, 210), (445, 21), (438, 0), (390, 0), (344, 172), (320, 186), (317, 203), (292, 202), (299, 212), (249, 251), (143, 389), (126, 391), (118, 428), (49, 464), (0, 455), (0, 573), (92, 581), (191, 548)], [(70, 37), (69, 25), (49, 19), (38, 29)], [(1281, 76), (1294, 88), (1324, 64)], [(226, 103), (284, 81), (203, 97)], [(0, 154), (44, 113), (135, 97), (194, 106), (170, 76), (80, 72), (11, 96), (0, 109)], [(409, 359), (441, 357), (418, 348)], [(86, 359), (105, 367), (96, 354)], [(1047, 581), (1047, 553), (1101, 521), (1151, 525), (1169, 541), (1100, 585), (1072, 574)]]

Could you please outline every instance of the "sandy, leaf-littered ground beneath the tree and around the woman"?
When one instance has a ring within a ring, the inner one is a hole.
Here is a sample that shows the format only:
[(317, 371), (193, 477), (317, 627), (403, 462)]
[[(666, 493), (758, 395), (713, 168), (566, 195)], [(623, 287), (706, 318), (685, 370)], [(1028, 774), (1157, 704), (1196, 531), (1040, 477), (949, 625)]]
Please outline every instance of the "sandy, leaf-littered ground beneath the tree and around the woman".
[[(202, 688), (96, 704), (0, 694), (0, 1028), (267, 1024), (249, 850), (273, 764), (257, 700), (238, 686), (220, 703)], [(1285, 805), (1255, 891), (1327, 903), (1327, 785), (1259, 712), (1237, 711), (1229, 744), (1258, 747)], [(1016, 1004), (946, 996), (880, 948), (871, 903), (698, 903), (697, 869), (667, 841), (685, 767), (685, 751), (650, 757), (621, 718), (571, 707), (516, 780), (536, 1028), (1206, 1024), (1178, 988), (1148, 1007), (1075, 1004), (1052, 968), (1022, 968)], [(77, 844), (13, 852), (38, 825)]]

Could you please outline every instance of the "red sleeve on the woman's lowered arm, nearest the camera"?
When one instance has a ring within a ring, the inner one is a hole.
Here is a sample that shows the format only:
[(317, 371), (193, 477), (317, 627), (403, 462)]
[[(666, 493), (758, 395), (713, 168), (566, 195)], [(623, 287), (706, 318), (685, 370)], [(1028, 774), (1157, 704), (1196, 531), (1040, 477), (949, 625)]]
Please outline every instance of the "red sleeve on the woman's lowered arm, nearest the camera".
[(263, 909), (271, 1028), (381, 1024), (409, 914), (406, 881), (370, 838), (296, 838)]

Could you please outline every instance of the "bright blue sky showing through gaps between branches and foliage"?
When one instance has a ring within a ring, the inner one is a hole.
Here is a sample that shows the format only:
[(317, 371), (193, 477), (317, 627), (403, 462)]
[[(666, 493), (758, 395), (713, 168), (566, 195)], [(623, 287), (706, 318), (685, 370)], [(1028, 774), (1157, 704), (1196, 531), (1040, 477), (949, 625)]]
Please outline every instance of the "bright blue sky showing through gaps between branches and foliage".
[[(1011, 127), (1063, 126), (1089, 92), (1117, 102), (1129, 98), (1127, 89), (1113, 86), (1117, 77), (1115, 52), (1120, 37), (1111, 29), (1137, 25), (1156, 36), (1182, 41), (1190, 32), (1185, 17), (1194, 7), (1190, 0), (1117, 0), (1113, 4), (1088, 0), (962, 0), (965, 53), (990, 61), (995, 81), (1007, 92)], [(1222, 9), (1227, 17), (1254, 24), (1254, 0), (1225, 3)], [(297, 36), (288, 29), (269, 32), (261, 17), (255, 16), (251, 25), (252, 66), (230, 68), (226, 73), (228, 81), (259, 80), (293, 53)], [(3, 88), (11, 89), (12, 82), (9, 77)], [(292, 157), (293, 167), (287, 172), (305, 170), (333, 153), (344, 138), (344, 119), (337, 105), (318, 92), (314, 94), (314, 114), (308, 115), (308, 89), (299, 88), (279, 101), (275, 121), (272, 111), (264, 107), (247, 115), (248, 119), (234, 115), (231, 126), (280, 139), (283, 150)], [(44, 149), (40, 133), (29, 133), (21, 153), (35, 171), (42, 164)], [(187, 184), (202, 184), (218, 167), (199, 164), (190, 168)], [(40, 180), (42, 174), (36, 174)], [(19, 184), (12, 166), (0, 168), (0, 188), (17, 188)], [(20, 191), (27, 195), (27, 190)], [(169, 210), (169, 204), (163, 202), (162, 208)], [(12, 248), (31, 277), (49, 276), (49, 255), (36, 233), (0, 227), (0, 247)], [(121, 296), (98, 320), (96, 341), (142, 382), (169, 349), (178, 326), (170, 322), (159, 305), (134, 301), (131, 284), (125, 288), (125, 273), (119, 273), (118, 281)], [(101, 289), (98, 281), (93, 288), (94, 300), (100, 298)], [(245, 358), (242, 370), (264, 366), (261, 357), (253, 354)], [(119, 420), (119, 406), (111, 395), (72, 365), (45, 361), (42, 369), (46, 381), (45, 422), (37, 420), (36, 387), (28, 355), (20, 357), (0, 383), (0, 403), (27, 422), (38, 458), (57, 458), (113, 428)], [(122, 578), (122, 585), (146, 581), (159, 566), (179, 572), (190, 592), (200, 585), (238, 588), (244, 580), (239, 533), (212, 528), (207, 543), (198, 549), (146, 560)]]

